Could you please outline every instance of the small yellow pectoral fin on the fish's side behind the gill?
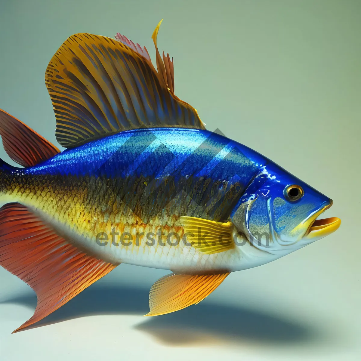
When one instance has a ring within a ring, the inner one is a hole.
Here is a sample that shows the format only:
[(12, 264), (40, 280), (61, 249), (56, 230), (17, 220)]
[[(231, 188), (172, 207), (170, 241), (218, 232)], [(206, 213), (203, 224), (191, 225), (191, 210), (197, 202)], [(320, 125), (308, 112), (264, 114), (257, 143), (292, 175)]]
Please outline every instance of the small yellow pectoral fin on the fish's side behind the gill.
[(187, 242), (206, 255), (234, 248), (232, 222), (216, 222), (197, 217), (181, 216)]

